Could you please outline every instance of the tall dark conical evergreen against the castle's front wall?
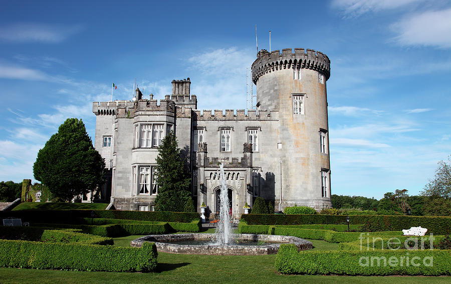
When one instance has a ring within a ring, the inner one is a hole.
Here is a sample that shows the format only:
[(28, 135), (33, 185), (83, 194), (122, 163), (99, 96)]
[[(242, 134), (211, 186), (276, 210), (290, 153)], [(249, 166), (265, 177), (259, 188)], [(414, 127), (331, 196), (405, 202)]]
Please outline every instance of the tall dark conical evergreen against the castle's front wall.
[(191, 177), (174, 133), (171, 132), (161, 141), (156, 162), (158, 195), (155, 210), (182, 212), (186, 201), (191, 199)]

